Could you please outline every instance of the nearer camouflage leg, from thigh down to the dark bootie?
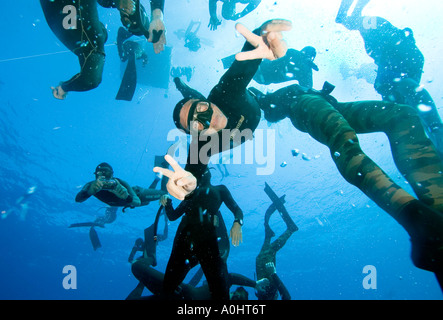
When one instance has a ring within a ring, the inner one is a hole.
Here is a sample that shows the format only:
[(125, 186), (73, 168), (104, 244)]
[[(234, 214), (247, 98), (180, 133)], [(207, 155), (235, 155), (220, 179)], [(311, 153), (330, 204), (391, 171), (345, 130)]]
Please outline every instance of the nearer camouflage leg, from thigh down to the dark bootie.
[(343, 178), (390, 214), (415, 199), (363, 152), (353, 127), (320, 95), (300, 96), (290, 119), (297, 129), (328, 146)]

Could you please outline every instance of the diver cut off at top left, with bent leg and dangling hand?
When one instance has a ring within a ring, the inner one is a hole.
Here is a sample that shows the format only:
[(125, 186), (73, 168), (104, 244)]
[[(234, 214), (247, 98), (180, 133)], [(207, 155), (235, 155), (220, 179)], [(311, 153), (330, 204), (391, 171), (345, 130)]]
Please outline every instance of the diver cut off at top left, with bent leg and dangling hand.
[[(108, 34), (103, 23), (99, 20), (97, 2), (103, 7), (118, 8), (121, 15), (127, 16), (130, 21), (137, 21), (139, 19), (131, 15), (132, 11), (135, 10), (134, 3), (137, 3), (137, 1), (138, 0), (40, 0), (40, 5), (50, 29), (57, 38), (78, 57), (80, 64), (79, 73), (68, 81), (62, 81), (58, 86), (51, 87), (52, 94), (55, 98), (65, 99), (69, 91), (92, 90), (98, 87), (102, 81), (105, 63), (105, 42)], [(154, 33), (155, 30), (164, 36), (164, 25), (161, 27), (163, 23), (162, 8), (164, 0), (156, 0), (153, 2), (156, 3), (156, 6), (153, 7), (151, 5), (153, 20), (149, 26), (149, 30), (152, 29), (152, 33)], [(72, 7), (75, 8), (75, 11), (68, 10), (68, 13), (64, 12), (65, 8)], [(73, 14), (73, 18), (70, 16), (71, 14)], [(67, 24), (70, 18), (75, 19), (76, 24)], [(158, 44), (156, 44), (158, 48), (163, 48), (165, 42), (165, 40), (163, 40), (160, 36), (160, 40)], [(148, 39), (148, 41), (153, 40)]]

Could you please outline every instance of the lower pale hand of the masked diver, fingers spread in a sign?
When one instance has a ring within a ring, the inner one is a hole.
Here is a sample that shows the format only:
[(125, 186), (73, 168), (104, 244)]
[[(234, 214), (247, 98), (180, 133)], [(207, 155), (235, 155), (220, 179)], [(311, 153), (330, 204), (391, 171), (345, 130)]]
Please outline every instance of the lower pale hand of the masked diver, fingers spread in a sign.
[(197, 187), (197, 179), (192, 173), (182, 169), (170, 155), (166, 155), (165, 160), (171, 165), (173, 171), (161, 167), (154, 167), (153, 170), (154, 172), (161, 172), (169, 178), (166, 188), (173, 197), (184, 200)]

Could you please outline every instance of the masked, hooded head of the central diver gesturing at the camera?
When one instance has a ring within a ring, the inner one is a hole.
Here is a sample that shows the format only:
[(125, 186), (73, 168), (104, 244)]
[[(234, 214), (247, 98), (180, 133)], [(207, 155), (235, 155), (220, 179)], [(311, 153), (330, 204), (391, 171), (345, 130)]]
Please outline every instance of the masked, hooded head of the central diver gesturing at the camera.
[(212, 134), (226, 127), (228, 119), (213, 103), (203, 99), (184, 98), (173, 111), (175, 126), (190, 133), (190, 128)]

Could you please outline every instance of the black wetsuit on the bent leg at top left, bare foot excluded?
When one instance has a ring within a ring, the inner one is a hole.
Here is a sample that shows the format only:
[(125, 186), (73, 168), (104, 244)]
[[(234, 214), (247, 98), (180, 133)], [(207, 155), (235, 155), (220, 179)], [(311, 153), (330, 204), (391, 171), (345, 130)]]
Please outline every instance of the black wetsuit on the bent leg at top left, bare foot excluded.
[[(46, 21), (57, 38), (79, 59), (80, 72), (60, 83), (65, 92), (87, 91), (96, 88), (105, 63), (107, 31), (99, 21), (96, 0), (40, 0)], [(65, 28), (63, 13), (66, 6), (76, 9), (77, 27)]]

